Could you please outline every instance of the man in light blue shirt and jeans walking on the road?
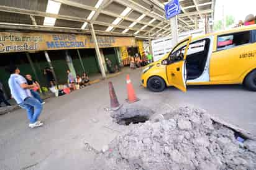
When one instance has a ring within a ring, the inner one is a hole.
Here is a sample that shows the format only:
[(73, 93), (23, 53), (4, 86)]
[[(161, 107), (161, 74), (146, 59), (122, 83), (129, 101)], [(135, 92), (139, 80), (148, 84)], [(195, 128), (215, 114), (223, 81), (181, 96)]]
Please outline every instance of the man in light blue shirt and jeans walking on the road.
[(27, 84), (25, 78), (20, 75), (20, 70), (17, 66), (9, 66), (9, 72), (11, 76), (8, 84), (11, 89), (11, 95), (22, 109), (27, 110), (29, 127), (34, 128), (42, 126), (43, 123), (38, 120), (43, 109), (42, 104), (32, 97), (32, 94), (29, 91), (29, 89), (36, 87), (37, 84)]

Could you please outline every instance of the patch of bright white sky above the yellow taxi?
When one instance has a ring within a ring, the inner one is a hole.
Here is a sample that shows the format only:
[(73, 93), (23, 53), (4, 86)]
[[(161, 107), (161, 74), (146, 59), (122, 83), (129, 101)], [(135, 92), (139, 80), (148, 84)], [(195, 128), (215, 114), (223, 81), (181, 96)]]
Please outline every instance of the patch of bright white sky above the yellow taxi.
[(245, 19), (248, 14), (256, 16), (256, 0), (216, 0), (214, 20), (222, 19), (222, 6), (224, 6), (224, 16), (232, 15), (235, 23)]

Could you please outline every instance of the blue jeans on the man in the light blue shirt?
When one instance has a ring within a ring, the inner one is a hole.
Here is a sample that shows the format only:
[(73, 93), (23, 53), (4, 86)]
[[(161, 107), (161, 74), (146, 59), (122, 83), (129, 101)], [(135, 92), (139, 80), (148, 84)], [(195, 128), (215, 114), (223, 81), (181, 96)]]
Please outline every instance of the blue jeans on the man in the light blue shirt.
[(33, 97), (27, 97), (24, 102), (19, 104), (22, 109), (27, 110), (27, 117), (29, 118), (30, 123), (37, 122), (37, 118), (42, 112), (42, 104), (34, 99)]

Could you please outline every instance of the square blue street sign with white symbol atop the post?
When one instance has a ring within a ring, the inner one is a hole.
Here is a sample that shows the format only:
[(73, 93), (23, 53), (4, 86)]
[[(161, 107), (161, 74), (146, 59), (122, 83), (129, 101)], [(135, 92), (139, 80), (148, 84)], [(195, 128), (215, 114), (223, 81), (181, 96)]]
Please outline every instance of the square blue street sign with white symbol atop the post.
[(180, 14), (180, 3), (179, 0), (172, 0), (165, 5), (165, 16), (170, 19)]

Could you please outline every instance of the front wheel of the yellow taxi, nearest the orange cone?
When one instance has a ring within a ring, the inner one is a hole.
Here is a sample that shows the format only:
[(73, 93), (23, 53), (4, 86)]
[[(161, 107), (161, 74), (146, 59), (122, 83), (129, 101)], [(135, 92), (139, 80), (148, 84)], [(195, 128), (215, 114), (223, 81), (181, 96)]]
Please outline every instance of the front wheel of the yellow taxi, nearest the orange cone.
[(153, 76), (147, 81), (147, 87), (150, 91), (161, 92), (165, 89), (165, 81), (158, 76)]

